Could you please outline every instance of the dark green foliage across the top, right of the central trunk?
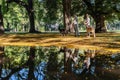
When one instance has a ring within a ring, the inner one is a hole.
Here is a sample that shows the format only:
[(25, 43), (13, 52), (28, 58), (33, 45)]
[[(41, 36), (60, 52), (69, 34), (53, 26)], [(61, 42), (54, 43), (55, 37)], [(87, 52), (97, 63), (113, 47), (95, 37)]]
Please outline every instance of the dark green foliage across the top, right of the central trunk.
[(102, 14), (106, 20), (120, 19), (119, 0), (74, 0), (71, 5), (71, 14), (83, 15)]

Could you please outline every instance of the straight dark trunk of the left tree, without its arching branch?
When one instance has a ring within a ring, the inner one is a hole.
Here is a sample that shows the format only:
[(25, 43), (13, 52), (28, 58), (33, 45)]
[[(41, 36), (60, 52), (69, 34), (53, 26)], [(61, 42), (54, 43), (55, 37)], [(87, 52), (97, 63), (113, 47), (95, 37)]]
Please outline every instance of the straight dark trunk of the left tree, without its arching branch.
[(28, 16), (30, 21), (30, 33), (36, 32), (35, 22), (34, 22), (34, 10), (33, 10), (33, 0), (28, 0)]

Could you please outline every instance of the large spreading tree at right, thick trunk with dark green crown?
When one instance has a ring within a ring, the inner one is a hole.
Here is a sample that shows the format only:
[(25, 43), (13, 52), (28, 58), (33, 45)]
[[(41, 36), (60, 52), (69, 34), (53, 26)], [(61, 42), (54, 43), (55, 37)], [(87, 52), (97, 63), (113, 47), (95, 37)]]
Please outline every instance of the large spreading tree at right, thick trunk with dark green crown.
[(107, 32), (105, 20), (118, 16), (120, 10), (117, 6), (119, 0), (82, 0), (86, 5), (86, 12), (90, 14), (96, 23), (96, 32)]

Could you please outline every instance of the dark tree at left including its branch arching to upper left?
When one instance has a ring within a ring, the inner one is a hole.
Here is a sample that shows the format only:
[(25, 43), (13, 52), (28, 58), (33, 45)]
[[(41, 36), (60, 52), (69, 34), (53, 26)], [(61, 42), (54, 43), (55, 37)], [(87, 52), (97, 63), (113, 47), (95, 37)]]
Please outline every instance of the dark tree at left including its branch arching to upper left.
[(7, 3), (15, 2), (21, 6), (23, 6), (28, 13), (29, 21), (30, 21), (30, 33), (37, 32), (35, 30), (35, 22), (34, 22), (34, 10), (33, 10), (33, 0), (27, 0), (27, 3), (21, 0), (7, 0)]

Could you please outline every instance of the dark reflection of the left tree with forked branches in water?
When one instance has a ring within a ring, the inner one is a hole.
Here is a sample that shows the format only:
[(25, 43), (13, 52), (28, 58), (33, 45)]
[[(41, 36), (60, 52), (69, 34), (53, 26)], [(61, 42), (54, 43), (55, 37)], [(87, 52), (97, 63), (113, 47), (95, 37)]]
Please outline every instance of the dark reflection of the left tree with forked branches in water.
[[(28, 80), (32, 80), (35, 79), (34, 76), (34, 57), (35, 57), (35, 47), (30, 47), (30, 54), (28, 55), (29, 58), (28, 60), (22, 64), (22, 65), (18, 65), (16, 67), (9, 67), (10, 69), (10, 73), (8, 75), (6, 75), (6, 77), (2, 78), (2, 80), (8, 80), (13, 74), (15, 74), (16, 72), (18, 72), (18, 75), (21, 79), (24, 79), (23, 76), (21, 76), (19, 74), (19, 71), (22, 70), (23, 68), (27, 67), (29, 68), (29, 72), (28, 72)], [(8, 63), (9, 64), (9, 63)]]

